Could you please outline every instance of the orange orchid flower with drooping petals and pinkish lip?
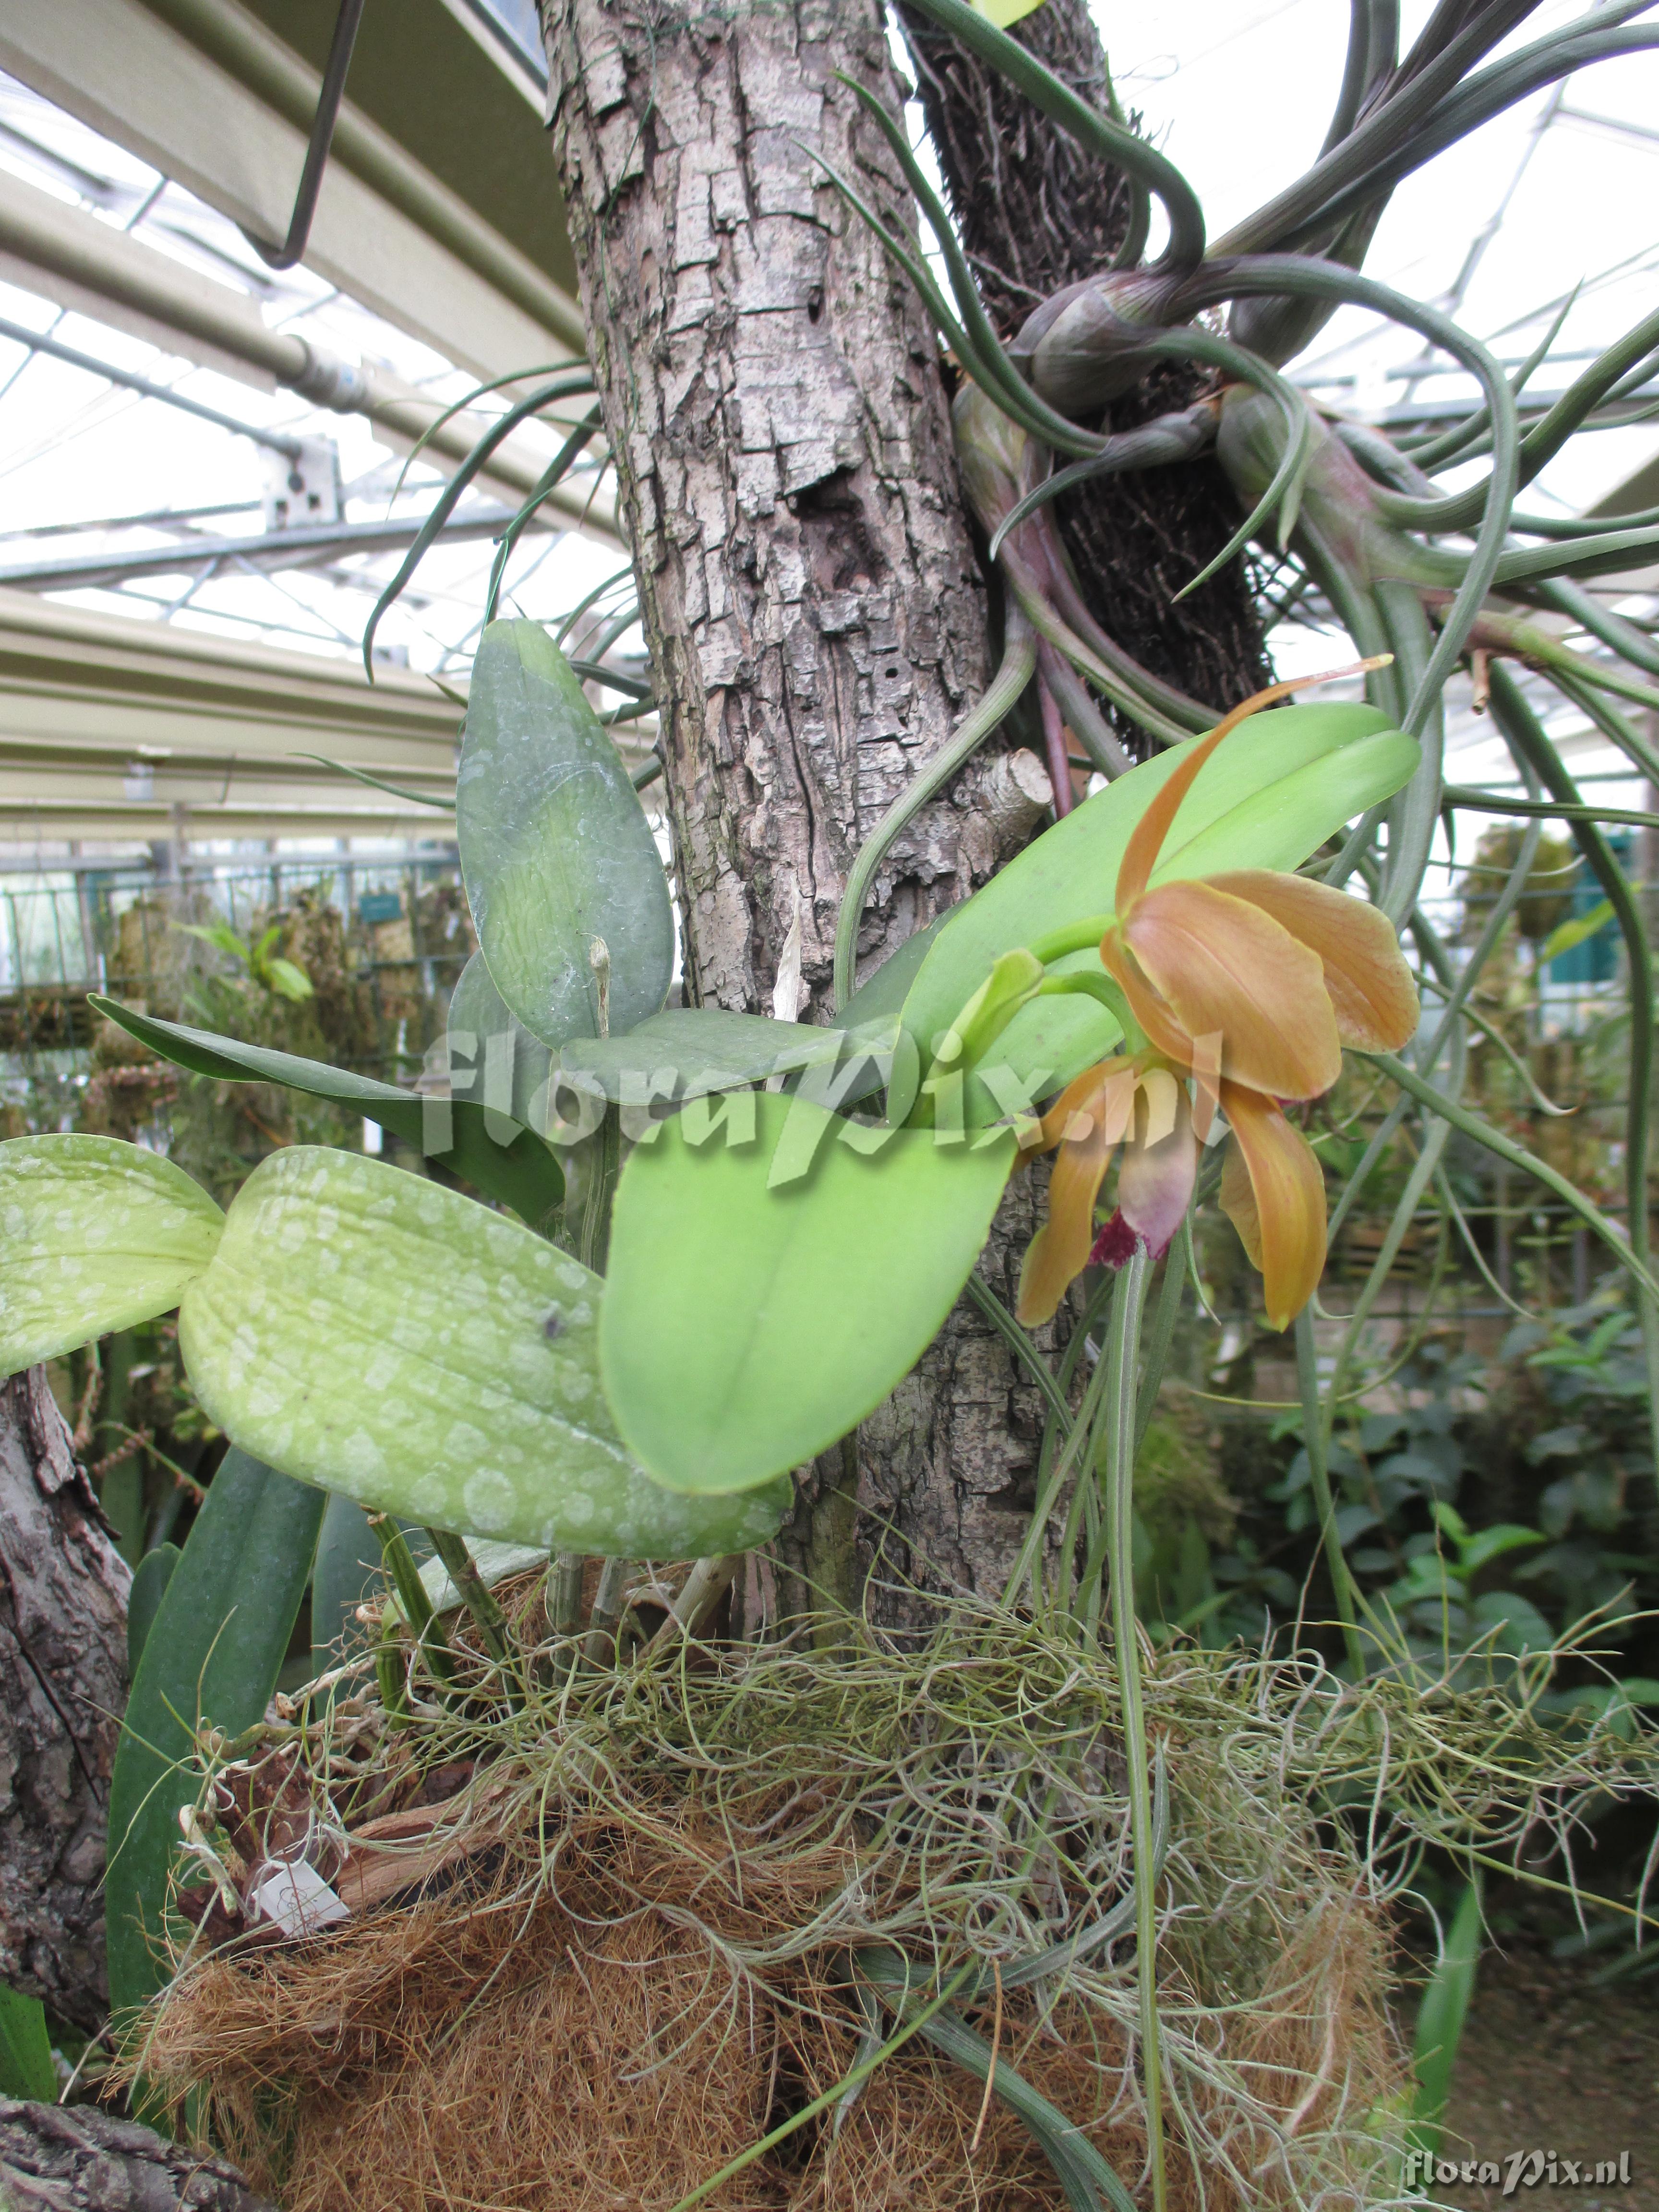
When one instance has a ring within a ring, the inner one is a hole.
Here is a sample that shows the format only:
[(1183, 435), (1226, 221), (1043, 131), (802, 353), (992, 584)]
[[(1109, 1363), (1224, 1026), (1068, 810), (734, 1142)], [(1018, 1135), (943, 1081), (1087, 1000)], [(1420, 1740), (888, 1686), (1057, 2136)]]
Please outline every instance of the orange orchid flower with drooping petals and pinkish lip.
[[(1241, 867), (1150, 880), (1192, 779), (1223, 737), (1274, 699), (1327, 681), (1303, 677), (1245, 699), (1190, 750), (1135, 825), (1099, 958), (1146, 1051), (1079, 1075), (1022, 1152), (1060, 1150), (1048, 1221), (1020, 1276), (1024, 1323), (1046, 1321), (1091, 1259), (1121, 1265), (1137, 1243), (1152, 1256), (1168, 1248), (1192, 1197), (1197, 1139), (1217, 1106), (1232, 1130), (1221, 1208), (1261, 1270), (1272, 1327), (1283, 1329), (1318, 1285), (1325, 1179), (1283, 1106), (1329, 1091), (1345, 1044), (1396, 1051), (1413, 1033), (1418, 991), (1400, 940), (1376, 907), (1305, 876)], [(1186, 1077), (1197, 1079), (1197, 1126)], [(1117, 1212), (1095, 1237), (1095, 1199), (1119, 1144)]]

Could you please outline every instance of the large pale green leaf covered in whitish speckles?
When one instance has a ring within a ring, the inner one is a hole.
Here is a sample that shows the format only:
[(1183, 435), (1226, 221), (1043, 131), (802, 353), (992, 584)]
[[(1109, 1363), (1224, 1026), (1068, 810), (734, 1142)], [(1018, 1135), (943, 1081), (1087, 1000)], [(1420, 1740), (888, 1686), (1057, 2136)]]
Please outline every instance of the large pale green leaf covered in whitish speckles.
[(599, 1389), (604, 1283), (484, 1206), (290, 1146), (243, 1183), (179, 1343), (248, 1451), (434, 1528), (622, 1557), (765, 1542), (787, 1486), (675, 1498)]

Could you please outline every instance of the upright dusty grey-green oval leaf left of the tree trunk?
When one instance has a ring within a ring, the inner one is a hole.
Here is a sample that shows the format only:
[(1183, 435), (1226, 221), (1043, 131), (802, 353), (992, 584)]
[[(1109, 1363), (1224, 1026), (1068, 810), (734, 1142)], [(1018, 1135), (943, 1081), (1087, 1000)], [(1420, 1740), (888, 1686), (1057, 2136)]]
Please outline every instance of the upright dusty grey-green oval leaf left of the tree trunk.
[(495, 989), (544, 1044), (599, 1035), (588, 949), (611, 953), (611, 1031), (661, 1009), (675, 918), (657, 841), (582, 684), (535, 622), (473, 659), (456, 834)]

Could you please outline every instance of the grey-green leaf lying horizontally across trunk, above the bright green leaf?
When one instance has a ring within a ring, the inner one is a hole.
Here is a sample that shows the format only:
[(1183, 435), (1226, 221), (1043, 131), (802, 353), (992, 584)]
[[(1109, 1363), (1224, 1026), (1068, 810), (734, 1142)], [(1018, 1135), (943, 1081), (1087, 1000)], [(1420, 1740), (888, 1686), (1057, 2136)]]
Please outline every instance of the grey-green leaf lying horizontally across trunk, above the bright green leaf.
[(593, 1077), (608, 1099), (646, 1104), (708, 1097), (796, 1075), (803, 1068), (836, 1071), (841, 1104), (880, 1091), (891, 1060), (898, 1022), (860, 1022), (858, 1029), (814, 1029), (810, 1022), (770, 1022), (761, 1013), (726, 1013), (721, 1006), (670, 1006), (626, 1037), (580, 1037), (560, 1053), (571, 1075)]

